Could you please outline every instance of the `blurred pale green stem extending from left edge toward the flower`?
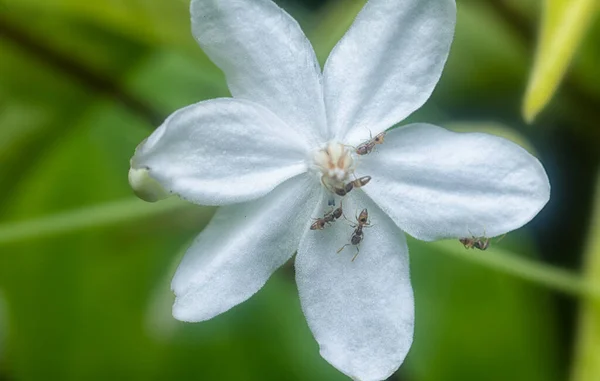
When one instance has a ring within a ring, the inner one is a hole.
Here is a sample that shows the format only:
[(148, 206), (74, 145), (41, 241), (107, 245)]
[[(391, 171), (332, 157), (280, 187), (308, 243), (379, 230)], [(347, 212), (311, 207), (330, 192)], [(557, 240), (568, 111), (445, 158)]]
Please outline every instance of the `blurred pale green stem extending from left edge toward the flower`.
[(0, 225), (0, 245), (129, 222), (163, 214), (189, 204), (175, 198), (150, 204), (137, 198), (107, 202), (73, 211)]

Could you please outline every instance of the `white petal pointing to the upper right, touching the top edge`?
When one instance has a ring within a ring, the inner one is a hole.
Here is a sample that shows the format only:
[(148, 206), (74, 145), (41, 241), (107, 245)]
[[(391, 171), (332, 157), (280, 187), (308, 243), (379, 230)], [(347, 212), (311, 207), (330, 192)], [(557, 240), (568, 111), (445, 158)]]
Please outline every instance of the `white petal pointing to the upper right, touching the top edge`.
[(337, 139), (358, 144), (421, 107), (440, 78), (455, 22), (454, 0), (370, 0), (325, 64)]

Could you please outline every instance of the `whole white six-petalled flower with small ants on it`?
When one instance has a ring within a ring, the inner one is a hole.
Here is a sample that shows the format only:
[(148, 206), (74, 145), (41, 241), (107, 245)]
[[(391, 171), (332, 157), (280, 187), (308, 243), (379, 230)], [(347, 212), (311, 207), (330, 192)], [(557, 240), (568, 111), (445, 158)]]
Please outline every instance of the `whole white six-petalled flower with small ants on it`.
[[(403, 232), (436, 240), (519, 228), (549, 198), (544, 169), (505, 139), (427, 124), (391, 130), (366, 155), (351, 148), (430, 96), (454, 0), (369, 1), (323, 73), (296, 21), (270, 0), (193, 0), (191, 13), (233, 98), (176, 111), (138, 147), (131, 176), (134, 188), (148, 174), (191, 202), (228, 205), (177, 270), (174, 316), (197, 322), (229, 310), (297, 250), (300, 300), (322, 356), (354, 379), (385, 379), (413, 336)], [(372, 180), (342, 205), (350, 220), (366, 208), (371, 227), (351, 261), (356, 246), (336, 254), (354, 229), (343, 218), (309, 227), (331, 189), (361, 176)]]

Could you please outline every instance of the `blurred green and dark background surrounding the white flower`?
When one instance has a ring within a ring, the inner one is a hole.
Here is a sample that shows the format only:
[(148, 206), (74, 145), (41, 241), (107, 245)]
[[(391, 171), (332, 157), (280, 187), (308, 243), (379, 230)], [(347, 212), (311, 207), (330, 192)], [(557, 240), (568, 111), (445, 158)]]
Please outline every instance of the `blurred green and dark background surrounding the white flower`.
[[(324, 62), (364, 1), (278, 3)], [(0, 0), (1, 381), (347, 379), (319, 356), (292, 263), (211, 321), (171, 317), (170, 278), (214, 209), (138, 201), (127, 171), (136, 145), (167, 115), (228, 95), (192, 39), (188, 6)], [(521, 109), (541, 6), (459, 0), (442, 80), (410, 121), (487, 131), (533, 152), (550, 177), (550, 203), (492, 245), (583, 274), (586, 237), (600, 229), (591, 222), (600, 25), (592, 24), (558, 92), (528, 125)], [(449, 255), (465, 251), (458, 242), (409, 247), (415, 340), (391, 379), (571, 378), (581, 299)]]

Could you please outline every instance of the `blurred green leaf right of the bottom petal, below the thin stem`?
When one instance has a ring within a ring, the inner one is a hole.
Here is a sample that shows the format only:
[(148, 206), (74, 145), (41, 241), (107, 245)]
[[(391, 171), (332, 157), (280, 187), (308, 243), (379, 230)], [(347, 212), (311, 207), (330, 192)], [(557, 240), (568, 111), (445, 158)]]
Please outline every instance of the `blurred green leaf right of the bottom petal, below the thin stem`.
[[(522, 235), (507, 240), (503, 246), (535, 252)], [(465, 251), (458, 241), (409, 241), (416, 303), (415, 339), (405, 365), (409, 378), (561, 380), (548, 293), (437, 250), (450, 245)]]

